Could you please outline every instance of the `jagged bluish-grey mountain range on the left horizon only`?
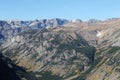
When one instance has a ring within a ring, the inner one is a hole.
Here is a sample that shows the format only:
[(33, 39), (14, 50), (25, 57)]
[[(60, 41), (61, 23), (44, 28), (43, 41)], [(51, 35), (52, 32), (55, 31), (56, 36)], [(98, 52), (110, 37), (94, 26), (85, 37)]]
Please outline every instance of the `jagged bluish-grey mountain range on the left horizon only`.
[(55, 28), (67, 24), (66, 19), (43, 19), (35, 21), (0, 21), (0, 38), (13, 37), (14, 35), (31, 29)]

